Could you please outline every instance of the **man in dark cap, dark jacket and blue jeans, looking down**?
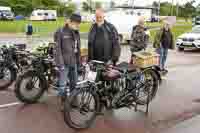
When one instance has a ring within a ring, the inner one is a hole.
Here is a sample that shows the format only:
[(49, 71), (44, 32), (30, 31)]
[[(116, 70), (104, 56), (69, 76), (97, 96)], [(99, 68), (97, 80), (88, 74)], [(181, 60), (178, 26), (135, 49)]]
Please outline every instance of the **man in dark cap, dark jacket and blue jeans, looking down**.
[[(58, 29), (54, 34), (56, 42), (55, 61), (59, 68), (59, 96), (69, 95), (78, 79), (77, 65), (80, 59), (80, 34), (79, 26), (81, 16), (72, 14), (69, 22), (65, 26)], [(69, 79), (70, 89), (65, 91), (66, 81)]]

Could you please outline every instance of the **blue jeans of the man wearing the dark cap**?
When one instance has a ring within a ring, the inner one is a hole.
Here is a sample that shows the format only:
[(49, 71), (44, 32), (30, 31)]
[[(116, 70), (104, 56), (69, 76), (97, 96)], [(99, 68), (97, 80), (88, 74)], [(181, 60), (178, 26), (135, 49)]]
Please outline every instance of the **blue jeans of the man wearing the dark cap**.
[[(64, 65), (59, 67), (59, 96), (65, 95), (65, 92), (67, 93), (67, 96), (70, 95), (70, 92), (75, 89), (76, 83), (78, 80), (78, 74), (77, 74), (77, 65)], [(69, 83), (69, 87), (66, 88), (66, 84)]]

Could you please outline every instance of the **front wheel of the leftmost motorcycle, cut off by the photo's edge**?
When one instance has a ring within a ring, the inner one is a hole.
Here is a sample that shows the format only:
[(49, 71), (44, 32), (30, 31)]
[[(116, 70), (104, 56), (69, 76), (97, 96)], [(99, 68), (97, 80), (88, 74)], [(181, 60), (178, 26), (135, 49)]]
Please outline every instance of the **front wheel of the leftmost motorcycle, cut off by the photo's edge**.
[(17, 73), (13, 67), (4, 66), (0, 69), (0, 90), (7, 89), (17, 77)]

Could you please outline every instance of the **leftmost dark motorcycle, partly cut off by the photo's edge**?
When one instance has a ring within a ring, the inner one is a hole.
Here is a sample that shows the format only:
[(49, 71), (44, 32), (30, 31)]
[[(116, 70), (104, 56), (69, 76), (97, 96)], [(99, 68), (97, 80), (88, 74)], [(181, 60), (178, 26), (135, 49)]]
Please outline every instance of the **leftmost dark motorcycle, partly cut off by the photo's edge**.
[(28, 66), (28, 52), (20, 47), (4, 45), (0, 48), (0, 90), (7, 89), (16, 80), (17, 73)]

